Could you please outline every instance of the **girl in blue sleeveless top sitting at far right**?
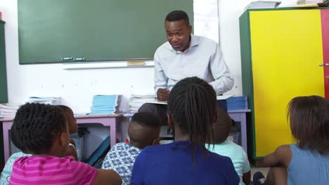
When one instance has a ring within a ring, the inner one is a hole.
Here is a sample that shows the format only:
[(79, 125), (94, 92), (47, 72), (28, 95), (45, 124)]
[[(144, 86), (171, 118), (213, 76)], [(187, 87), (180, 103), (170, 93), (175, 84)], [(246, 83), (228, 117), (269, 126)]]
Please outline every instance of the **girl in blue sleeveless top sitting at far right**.
[(288, 104), (287, 118), (296, 144), (278, 146), (264, 158), (271, 167), (259, 184), (329, 184), (329, 102), (316, 95), (295, 97)]

